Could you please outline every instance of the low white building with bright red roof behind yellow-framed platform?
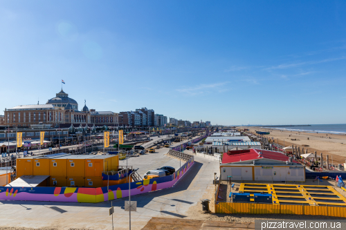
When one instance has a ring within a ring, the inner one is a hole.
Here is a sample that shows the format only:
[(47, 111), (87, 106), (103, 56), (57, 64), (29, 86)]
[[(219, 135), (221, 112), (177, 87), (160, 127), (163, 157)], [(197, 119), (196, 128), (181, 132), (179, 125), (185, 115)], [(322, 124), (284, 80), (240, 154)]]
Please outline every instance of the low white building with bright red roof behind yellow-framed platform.
[(276, 151), (228, 151), (220, 164), (221, 180), (305, 181), (305, 167)]

